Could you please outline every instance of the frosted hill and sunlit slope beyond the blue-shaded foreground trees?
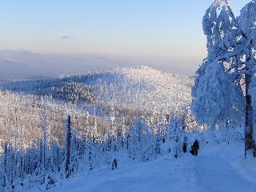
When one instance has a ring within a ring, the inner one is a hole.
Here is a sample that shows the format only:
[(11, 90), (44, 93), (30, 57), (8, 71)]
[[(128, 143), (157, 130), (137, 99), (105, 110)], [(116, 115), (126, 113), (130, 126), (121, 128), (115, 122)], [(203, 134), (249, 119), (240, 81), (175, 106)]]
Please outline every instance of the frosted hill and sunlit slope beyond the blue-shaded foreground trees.
[[(0, 131), (2, 135), (9, 135), (9, 132), (18, 134), (13, 121), (8, 121), (8, 118), (18, 116), (15, 125), (19, 125), (18, 130), (24, 132), (25, 140), (42, 135), (43, 95), (50, 97), (48, 124), (51, 137), (62, 142), (65, 118), (70, 111), (76, 111), (75, 114), (81, 121), (85, 121), (82, 119), (86, 119), (88, 112), (91, 126), (94, 125), (93, 119), (97, 118), (98, 131), (109, 127), (111, 115), (114, 115), (115, 122), (123, 128), (131, 126), (141, 116), (158, 118), (158, 123), (165, 123), (166, 115), (184, 114), (186, 106), (191, 102), (193, 83), (192, 78), (147, 66), (62, 78), (2, 82)], [(31, 121), (24, 121), (27, 116)], [(12, 127), (13, 132), (9, 127)], [(84, 125), (80, 124), (78, 128), (82, 130)], [(40, 134), (36, 134), (38, 132)]]

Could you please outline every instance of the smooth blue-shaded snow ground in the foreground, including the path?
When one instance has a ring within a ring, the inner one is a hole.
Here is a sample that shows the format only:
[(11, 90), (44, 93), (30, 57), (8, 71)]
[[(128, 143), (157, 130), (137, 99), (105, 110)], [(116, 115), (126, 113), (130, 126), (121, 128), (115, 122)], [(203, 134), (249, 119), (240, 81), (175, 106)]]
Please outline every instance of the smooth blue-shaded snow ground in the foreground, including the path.
[(256, 191), (256, 163), (243, 158), (242, 143), (211, 143), (198, 157), (167, 154), (140, 164), (122, 158), (119, 164), (118, 170), (79, 174), (50, 191)]

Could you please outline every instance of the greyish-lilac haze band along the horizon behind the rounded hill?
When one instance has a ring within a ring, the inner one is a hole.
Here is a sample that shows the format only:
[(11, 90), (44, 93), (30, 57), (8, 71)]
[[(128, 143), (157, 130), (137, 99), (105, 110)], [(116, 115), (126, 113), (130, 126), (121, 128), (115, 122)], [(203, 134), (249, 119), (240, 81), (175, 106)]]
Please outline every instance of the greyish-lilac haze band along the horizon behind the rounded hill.
[[(190, 61), (190, 63), (186, 62)], [(124, 66), (151, 66), (192, 76), (200, 59), (104, 56), (100, 54), (36, 54), (26, 50), (0, 50), (0, 80), (52, 77)]]

